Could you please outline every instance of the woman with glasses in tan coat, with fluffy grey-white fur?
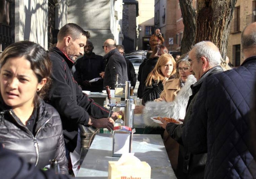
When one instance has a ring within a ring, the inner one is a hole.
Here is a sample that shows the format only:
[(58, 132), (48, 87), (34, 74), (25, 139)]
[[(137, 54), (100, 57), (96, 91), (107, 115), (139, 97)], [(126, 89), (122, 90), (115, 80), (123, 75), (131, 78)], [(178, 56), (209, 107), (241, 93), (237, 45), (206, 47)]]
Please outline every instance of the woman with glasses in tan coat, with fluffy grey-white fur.
[[(150, 119), (152, 116), (162, 116), (174, 119), (184, 119), (186, 105), (189, 96), (192, 94), (190, 86), (196, 82), (196, 78), (191, 75), (189, 68), (188, 55), (182, 55), (176, 62), (176, 70), (178, 78), (168, 80), (164, 89), (155, 101), (146, 103), (146, 106), (138, 105), (134, 109), (134, 114), (143, 113), (146, 128), (158, 129), (159, 124)], [(174, 170), (178, 164), (179, 144), (172, 139), (167, 131), (163, 133), (163, 141), (167, 150), (169, 159)]]

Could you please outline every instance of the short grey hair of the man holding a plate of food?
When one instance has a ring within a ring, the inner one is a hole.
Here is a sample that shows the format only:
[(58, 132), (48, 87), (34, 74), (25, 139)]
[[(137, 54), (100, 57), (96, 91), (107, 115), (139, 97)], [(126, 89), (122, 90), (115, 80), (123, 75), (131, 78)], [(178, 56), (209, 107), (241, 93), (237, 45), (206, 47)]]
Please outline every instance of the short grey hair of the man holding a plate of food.
[[(220, 51), (216, 48), (213, 48), (212, 45), (209, 44), (210, 41), (201, 41), (195, 44), (195, 55), (196, 58), (199, 59), (201, 57), (205, 57), (208, 59), (209, 65), (211, 67), (214, 67), (216, 65), (221, 64), (221, 53)], [(210, 42), (212, 43), (212, 42)], [(213, 44), (213, 43), (212, 43)]]

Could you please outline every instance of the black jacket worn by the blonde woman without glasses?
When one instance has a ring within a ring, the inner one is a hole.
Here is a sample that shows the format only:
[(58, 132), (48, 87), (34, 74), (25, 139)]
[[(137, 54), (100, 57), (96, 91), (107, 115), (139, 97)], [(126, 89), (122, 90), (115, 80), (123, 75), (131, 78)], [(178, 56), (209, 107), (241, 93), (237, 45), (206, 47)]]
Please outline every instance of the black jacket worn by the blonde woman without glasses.
[(163, 84), (161, 81), (157, 83), (157, 81), (152, 80), (152, 84), (150, 86), (145, 86), (143, 90), (143, 101), (146, 103), (148, 101), (153, 101), (160, 97), (160, 94), (163, 91)]

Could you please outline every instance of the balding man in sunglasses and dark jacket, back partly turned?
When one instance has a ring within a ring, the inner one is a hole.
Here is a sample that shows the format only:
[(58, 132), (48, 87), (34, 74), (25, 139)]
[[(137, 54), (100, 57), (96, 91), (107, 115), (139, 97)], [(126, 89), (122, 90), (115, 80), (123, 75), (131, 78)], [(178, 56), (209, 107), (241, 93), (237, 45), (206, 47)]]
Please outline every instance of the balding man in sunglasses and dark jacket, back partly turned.
[(101, 73), (104, 78), (103, 87), (109, 86), (110, 89), (115, 88), (116, 74), (118, 74), (118, 84), (125, 84), (128, 80), (127, 65), (123, 55), (121, 55), (116, 47), (116, 42), (112, 39), (107, 39), (102, 46), (105, 56), (105, 72)]

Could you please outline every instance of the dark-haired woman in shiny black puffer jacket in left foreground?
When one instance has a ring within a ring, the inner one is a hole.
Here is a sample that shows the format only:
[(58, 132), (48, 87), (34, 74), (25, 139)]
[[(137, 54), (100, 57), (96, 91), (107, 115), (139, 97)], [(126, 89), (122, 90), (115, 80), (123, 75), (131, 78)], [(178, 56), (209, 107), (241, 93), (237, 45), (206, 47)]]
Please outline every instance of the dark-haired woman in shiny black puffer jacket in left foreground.
[(34, 42), (13, 43), (0, 65), (0, 143), (38, 168), (55, 159), (67, 174), (61, 120), (42, 99), (51, 81), (47, 52)]

